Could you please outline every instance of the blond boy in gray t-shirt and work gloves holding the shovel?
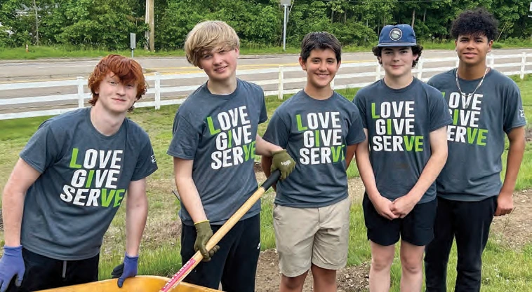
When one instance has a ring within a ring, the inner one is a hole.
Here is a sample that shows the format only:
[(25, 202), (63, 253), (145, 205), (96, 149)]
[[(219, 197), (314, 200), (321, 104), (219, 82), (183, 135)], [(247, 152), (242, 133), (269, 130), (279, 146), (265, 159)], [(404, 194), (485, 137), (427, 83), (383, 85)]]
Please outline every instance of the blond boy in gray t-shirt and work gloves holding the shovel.
[[(173, 122), (168, 155), (181, 197), (181, 257), (199, 250), (201, 263), (185, 281), (224, 291), (254, 291), (260, 252), (260, 202), (211, 251), (205, 247), (257, 189), (255, 152), (271, 156), (281, 178), (295, 163), (281, 147), (257, 135), (267, 120), (262, 89), (237, 78), (239, 38), (221, 21), (201, 22), (185, 41), (187, 60), (205, 71), (208, 81), (180, 106)], [(214, 254), (216, 253), (216, 254)]]

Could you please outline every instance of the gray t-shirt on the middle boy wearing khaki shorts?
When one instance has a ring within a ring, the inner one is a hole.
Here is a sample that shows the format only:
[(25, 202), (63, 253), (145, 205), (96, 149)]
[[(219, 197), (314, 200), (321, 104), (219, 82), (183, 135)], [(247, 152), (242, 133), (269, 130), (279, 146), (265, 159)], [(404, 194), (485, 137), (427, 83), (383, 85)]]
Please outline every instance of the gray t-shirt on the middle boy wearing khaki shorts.
[(286, 148), (295, 169), (277, 183), (275, 203), (324, 207), (347, 197), (346, 146), (366, 139), (357, 106), (334, 92), (324, 100), (301, 90), (275, 111), (263, 137)]

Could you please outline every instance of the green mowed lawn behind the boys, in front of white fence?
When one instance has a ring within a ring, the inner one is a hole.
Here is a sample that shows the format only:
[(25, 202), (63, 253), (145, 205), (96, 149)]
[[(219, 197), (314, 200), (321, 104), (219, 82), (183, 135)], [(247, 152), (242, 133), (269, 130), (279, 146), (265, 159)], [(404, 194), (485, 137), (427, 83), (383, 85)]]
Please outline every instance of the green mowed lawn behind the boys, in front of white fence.
[[(521, 96), (525, 107), (526, 118), (532, 120), (532, 80), (527, 77), (524, 81), (517, 81), (521, 88)], [(339, 90), (347, 99), (352, 99), (357, 89)], [(284, 98), (286, 100), (288, 96)], [(269, 116), (281, 104), (277, 97), (267, 97)], [(157, 274), (171, 276), (179, 270), (180, 227), (176, 224), (179, 204), (171, 194), (175, 188), (173, 182), (173, 167), (171, 158), (166, 155), (166, 148), (171, 140), (173, 117), (178, 106), (164, 106), (159, 111), (154, 109), (136, 109), (129, 117), (139, 123), (152, 139), (154, 151), (157, 155), (159, 170), (148, 180), (149, 218), (145, 237), (142, 241), (140, 255), (140, 274)], [(27, 118), (20, 120), (0, 121), (0, 188), (8, 179), (13, 165), (18, 160), (18, 153), (39, 124), (46, 117)], [(259, 134), (265, 131), (267, 123), (260, 125)], [(528, 125), (528, 127), (530, 127)], [(505, 159), (503, 159), (505, 162)], [(532, 188), (532, 145), (526, 146), (524, 162), (517, 180), (517, 188)], [(348, 170), (350, 177), (358, 176), (354, 163)], [(272, 227), (272, 207), (274, 193), (268, 191), (262, 200), (261, 240), (262, 249), (275, 247)], [(121, 207), (105, 235), (100, 256), (100, 279), (108, 279), (115, 265), (121, 263), (125, 248), (125, 208)], [(350, 219), (350, 247), (348, 265), (369, 263), (371, 252), (366, 240), (366, 228), (361, 202), (355, 200), (352, 204)], [(493, 236), (496, 235), (492, 235)], [(0, 244), (4, 244), (3, 235)], [(532, 285), (532, 244), (523, 249), (513, 250), (494, 240), (488, 242), (484, 252), (482, 291), (529, 291)], [(453, 247), (448, 267), (448, 289), (453, 291), (456, 265), (456, 251)], [(392, 265), (392, 290), (399, 291), (401, 266), (399, 253)]]

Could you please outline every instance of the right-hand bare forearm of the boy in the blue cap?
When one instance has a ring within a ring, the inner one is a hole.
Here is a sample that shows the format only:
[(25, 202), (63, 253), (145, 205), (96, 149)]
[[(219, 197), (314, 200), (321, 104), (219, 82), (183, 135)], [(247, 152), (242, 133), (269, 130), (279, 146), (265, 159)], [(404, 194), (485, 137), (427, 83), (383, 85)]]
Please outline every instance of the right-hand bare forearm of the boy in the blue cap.
[(416, 200), (421, 200), (423, 195), (432, 186), (432, 183), (437, 179), (441, 169), (444, 168), (447, 161), (447, 148), (439, 149), (430, 155), (427, 165), (423, 168), (423, 172), (408, 194), (415, 196)]

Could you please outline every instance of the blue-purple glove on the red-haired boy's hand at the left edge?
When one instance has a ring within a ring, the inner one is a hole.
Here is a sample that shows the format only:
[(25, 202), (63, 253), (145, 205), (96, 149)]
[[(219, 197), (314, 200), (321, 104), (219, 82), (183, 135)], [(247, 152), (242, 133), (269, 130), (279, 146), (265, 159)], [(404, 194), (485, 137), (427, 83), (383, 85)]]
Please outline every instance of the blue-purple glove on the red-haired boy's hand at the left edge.
[(20, 246), (5, 246), (4, 256), (0, 259), (0, 292), (5, 292), (8, 289), (11, 279), (17, 275), (15, 285), (20, 287), (22, 284), (22, 278), (26, 267), (24, 265), (24, 259), (22, 259), (22, 245)]

